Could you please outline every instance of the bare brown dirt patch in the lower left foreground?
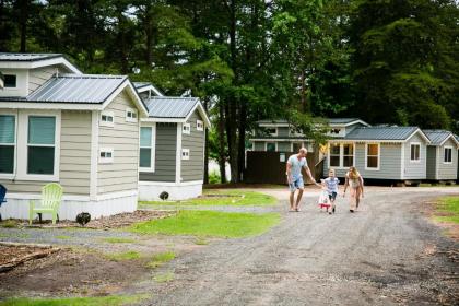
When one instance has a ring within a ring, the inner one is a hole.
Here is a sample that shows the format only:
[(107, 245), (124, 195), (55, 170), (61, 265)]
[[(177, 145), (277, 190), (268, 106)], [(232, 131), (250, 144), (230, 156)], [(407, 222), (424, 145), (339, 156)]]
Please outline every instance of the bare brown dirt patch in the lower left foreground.
[(1, 273), (0, 296), (24, 295), (27, 292), (46, 295), (110, 294), (148, 272), (145, 261), (111, 261), (96, 254), (62, 249)]

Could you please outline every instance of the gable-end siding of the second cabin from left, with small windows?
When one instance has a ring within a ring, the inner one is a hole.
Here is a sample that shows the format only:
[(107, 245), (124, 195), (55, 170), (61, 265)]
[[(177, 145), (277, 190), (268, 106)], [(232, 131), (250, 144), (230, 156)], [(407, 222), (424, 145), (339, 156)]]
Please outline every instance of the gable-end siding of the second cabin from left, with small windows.
[(204, 131), (198, 131), (196, 121), (202, 120), (198, 110), (190, 116), (190, 134), (181, 134), (181, 148), (190, 150), (190, 158), (181, 161), (181, 181), (202, 180), (204, 175)]

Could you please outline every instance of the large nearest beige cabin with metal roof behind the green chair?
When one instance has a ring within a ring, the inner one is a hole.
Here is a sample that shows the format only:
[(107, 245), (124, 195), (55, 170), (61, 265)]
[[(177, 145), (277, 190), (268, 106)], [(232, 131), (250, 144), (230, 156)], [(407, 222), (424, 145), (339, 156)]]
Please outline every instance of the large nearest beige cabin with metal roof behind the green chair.
[(137, 209), (140, 119), (126, 75), (83, 74), (62, 55), (0, 54), (0, 184), (4, 217), (27, 219), (44, 185), (63, 187), (60, 219)]

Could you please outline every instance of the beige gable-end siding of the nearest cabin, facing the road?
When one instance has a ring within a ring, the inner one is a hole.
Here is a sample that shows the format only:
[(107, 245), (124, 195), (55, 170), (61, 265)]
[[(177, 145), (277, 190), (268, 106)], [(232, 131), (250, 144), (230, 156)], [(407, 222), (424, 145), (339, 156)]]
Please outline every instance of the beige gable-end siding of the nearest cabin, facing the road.
[(126, 121), (127, 108), (137, 109), (123, 91), (104, 109), (114, 113), (114, 127), (99, 127), (98, 146), (114, 149), (114, 162), (98, 163), (99, 195), (137, 189), (140, 123)]

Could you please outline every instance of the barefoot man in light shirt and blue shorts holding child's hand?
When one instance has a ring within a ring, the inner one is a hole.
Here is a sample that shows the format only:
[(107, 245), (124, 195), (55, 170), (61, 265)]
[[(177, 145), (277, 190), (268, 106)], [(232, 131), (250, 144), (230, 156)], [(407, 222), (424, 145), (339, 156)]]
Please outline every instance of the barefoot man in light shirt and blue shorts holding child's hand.
[[(309, 167), (307, 166), (306, 161), (307, 150), (305, 148), (301, 148), (298, 154), (293, 154), (289, 157), (286, 163), (286, 176), (289, 181), (289, 189), (290, 189), (290, 211), (299, 211), (299, 201), (303, 197), (303, 191), (305, 188), (305, 184), (303, 181), (302, 168), (305, 168), (308, 178), (316, 184), (316, 186), (320, 187), (310, 174)], [(296, 196), (295, 201), (295, 191), (298, 190), (298, 195)]]

